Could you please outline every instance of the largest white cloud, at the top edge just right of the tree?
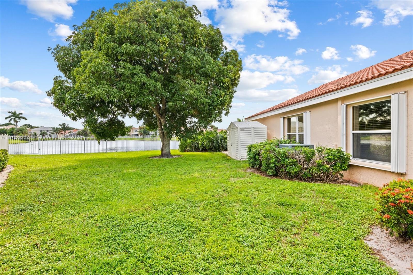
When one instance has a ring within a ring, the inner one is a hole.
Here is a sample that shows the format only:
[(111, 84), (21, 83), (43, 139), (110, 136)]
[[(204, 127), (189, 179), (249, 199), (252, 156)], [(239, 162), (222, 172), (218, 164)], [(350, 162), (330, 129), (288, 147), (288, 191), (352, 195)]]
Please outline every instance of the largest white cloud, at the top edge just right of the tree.
[[(225, 36), (225, 45), (244, 51), (240, 44), (248, 33), (287, 33), (288, 39), (297, 38), (300, 30), (295, 21), (290, 20), (287, 2), (273, 0), (229, 1), (216, 8), (215, 20)], [(283, 8), (281, 8), (281, 7)]]

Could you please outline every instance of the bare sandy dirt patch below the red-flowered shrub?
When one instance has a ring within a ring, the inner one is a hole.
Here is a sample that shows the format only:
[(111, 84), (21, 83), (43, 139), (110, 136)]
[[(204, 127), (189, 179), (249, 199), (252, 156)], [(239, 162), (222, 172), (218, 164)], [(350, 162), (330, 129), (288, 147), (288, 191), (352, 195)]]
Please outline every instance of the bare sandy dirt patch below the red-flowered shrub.
[[(413, 242), (400, 237), (393, 237), (386, 230), (373, 226), (371, 234), (364, 242), (382, 260), (399, 272), (400, 275), (412, 275)], [(412, 269), (412, 270), (410, 270)]]

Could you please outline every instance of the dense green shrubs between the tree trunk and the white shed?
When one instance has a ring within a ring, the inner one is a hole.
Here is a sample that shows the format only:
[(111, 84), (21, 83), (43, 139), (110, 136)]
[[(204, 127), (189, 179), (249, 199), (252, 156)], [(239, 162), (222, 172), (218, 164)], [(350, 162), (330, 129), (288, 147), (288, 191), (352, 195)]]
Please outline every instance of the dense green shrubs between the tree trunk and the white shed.
[(180, 140), (180, 152), (221, 152), (227, 150), (227, 131), (205, 131), (194, 138)]

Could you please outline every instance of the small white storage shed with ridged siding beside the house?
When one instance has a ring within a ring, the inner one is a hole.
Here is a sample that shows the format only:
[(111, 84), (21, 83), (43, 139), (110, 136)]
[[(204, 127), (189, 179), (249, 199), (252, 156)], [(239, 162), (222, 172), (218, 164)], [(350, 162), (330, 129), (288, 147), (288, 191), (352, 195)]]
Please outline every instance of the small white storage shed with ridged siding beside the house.
[(233, 159), (247, 159), (247, 145), (265, 141), (267, 126), (258, 121), (233, 121), (227, 128), (228, 154)]

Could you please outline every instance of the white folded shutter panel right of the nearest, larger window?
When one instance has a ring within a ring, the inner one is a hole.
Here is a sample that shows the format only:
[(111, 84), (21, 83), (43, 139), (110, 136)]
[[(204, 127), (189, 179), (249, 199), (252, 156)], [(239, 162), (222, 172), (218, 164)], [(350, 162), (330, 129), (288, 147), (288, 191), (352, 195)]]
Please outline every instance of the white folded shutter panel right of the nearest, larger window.
[(391, 135), (392, 172), (406, 173), (407, 146), (407, 98), (406, 92), (392, 95), (392, 135)]

